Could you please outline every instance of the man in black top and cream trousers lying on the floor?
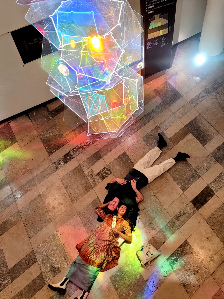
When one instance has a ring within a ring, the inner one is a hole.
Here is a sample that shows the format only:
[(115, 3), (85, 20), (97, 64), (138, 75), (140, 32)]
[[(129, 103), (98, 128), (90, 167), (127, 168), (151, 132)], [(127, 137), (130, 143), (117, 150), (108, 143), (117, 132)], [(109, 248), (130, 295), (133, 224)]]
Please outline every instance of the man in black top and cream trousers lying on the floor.
[[(140, 159), (129, 171), (129, 174), (139, 179), (136, 181), (132, 179), (131, 182), (125, 179), (112, 179), (107, 184), (105, 189), (108, 190), (108, 194), (104, 199), (104, 203), (112, 200), (111, 204), (108, 205), (108, 209), (113, 211), (116, 209), (119, 203), (133, 205), (141, 202), (144, 197), (139, 191), (142, 187), (151, 183), (154, 179), (160, 176), (162, 173), (172, 167), (177, 161), (182, 161), (186, 158), (190, 158), (188, 154), (178, 152), (175, 158), (169, 158), (158, 165), (152, 166), (152, 164), (159, 158), (162, 152), (162, 148), (167, 145), (167, 142), (163, 138), (162, 134), (158, 133), (159, 140), (157, 146), (151, 149), (142, 159)], [(102, 222), (102, 219), (98, 217), (97, 221)]]

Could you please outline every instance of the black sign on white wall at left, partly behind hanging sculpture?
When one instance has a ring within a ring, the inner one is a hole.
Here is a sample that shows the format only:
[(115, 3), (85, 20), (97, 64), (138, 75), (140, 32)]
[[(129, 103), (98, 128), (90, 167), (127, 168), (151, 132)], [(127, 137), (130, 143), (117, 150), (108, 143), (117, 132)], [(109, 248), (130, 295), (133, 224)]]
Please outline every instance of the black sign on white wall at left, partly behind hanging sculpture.
[(24, 64), (41, 57), (43, 42), (47, 43), (47, 47), (49, 47), (49, 53), (45, 54), (52, 53), (51, 47), (53, 51), (57, 51), (33, 25), (14, 30), (11, 32), (11, 35)]

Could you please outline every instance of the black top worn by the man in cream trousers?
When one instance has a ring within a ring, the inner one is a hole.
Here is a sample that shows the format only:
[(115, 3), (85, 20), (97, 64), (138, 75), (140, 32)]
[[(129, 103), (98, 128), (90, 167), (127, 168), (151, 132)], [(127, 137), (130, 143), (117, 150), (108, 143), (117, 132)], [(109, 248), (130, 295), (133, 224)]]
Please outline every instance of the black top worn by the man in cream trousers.
[[(148, 184), (147, 177), (136, 169), (132, 169), (129, 171), (132, 176), (138, 176), (139, 179), (136, 182), (136, 188), (140, 190), (142, 187)], [(110, 202), (112, 198), (117, 197), (120, 200), (122, 205), (136, 205), (136, 193), (131, 187), (131, 182), (128, 182), (124, 185), (119, 183), (108, 183), (105, 189), (108, 190), (108, 194), (106, 195), (103, 203)], [(97, 221), (102, 222), (102, 219), (98, 216)]]

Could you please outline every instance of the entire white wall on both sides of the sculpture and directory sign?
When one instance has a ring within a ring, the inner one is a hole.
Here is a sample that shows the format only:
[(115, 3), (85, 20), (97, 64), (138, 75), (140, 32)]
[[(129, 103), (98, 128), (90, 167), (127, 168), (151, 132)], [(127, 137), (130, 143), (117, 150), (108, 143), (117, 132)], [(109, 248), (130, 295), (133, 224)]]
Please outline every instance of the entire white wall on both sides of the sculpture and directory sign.
[[(47, 73), (40, 59), (23, 66), (10, 31), (29, 25), (24, 16), (29, 7), (16, 0), (1, 0), (0, 4), (0, 121), (50, 100), (54, 95), (46, 85)], [(140, 0), (129, 0), (140, 13)], [(177, 0), (174, 44), (202, 29), (207, 0)]]

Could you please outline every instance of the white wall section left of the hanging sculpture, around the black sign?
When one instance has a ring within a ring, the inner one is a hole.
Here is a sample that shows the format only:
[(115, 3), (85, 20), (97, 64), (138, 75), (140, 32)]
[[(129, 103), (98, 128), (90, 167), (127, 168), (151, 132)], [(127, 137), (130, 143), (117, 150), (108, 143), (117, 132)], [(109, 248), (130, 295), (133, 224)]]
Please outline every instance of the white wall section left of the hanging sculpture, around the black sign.
[(0, 121), (55, 97), (46, 84), (41, 59), (23, 64), (10, 31), (30, 25), (29, 7), (1, 0), (0, 4)]

